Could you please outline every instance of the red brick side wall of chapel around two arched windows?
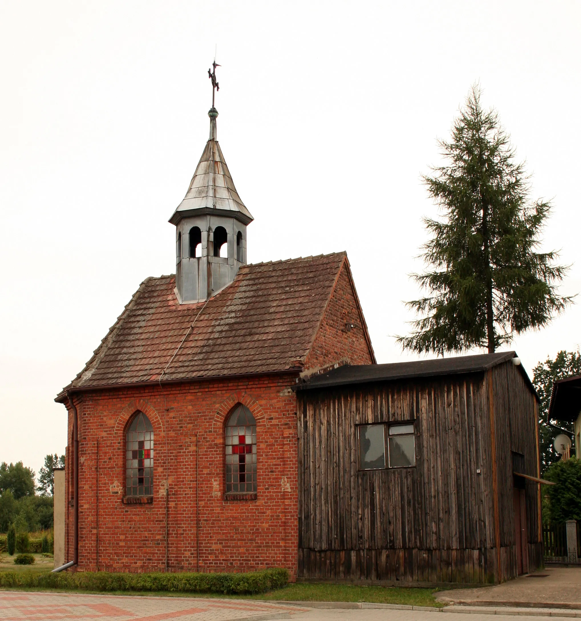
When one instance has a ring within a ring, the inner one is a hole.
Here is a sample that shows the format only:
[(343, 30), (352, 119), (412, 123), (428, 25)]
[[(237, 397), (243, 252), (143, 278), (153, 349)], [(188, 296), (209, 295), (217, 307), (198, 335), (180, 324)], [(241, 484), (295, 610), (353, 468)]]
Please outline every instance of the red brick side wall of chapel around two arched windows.
[[(200, 571), (284, 566), (295, 576), (297, 429), (296, 400), (289, 391), (294, 381), (286, 375), (83, 394), (78, 402), (79, 569), (97, 568), (98, 494), (99, 569), (163, 571), (167, 480), (169, 569), (196, 571), (197, 437)], [(256, 418), (256, 501), (223, 500), (223, 425), (237, 402)], [(153, 504), (124, 505), (125, 427), (138, 409), (148, 415), (155, 434), (155, 496)], [(72, 460), (67, 462), (71, 481)], [(72, 486), (68, 493), (71, 498)], [(72, 560), (73, 507), (67, 522), (67, 560)]]

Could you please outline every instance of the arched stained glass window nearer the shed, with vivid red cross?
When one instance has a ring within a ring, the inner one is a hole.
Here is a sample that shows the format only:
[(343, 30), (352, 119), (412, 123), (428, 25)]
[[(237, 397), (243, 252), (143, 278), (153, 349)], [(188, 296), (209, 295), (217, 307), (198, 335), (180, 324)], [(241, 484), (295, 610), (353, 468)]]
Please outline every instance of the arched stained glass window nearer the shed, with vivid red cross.
[(226, 492), (256, 493), (256, 420), (242, 404), (226, 423)]

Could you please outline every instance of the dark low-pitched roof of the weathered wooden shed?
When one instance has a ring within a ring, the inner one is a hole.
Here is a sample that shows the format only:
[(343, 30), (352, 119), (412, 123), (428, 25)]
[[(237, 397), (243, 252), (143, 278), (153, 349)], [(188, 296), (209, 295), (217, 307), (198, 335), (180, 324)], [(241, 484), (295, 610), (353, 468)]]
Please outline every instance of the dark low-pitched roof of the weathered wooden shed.
[[(366, 384), (395, 379), (476, 373), (501, 365), (515, 357), (515, 351), (503, 351), (501, 353), (487, 353), (475, 356), (454, 356), (451, 358), (436, 358), (435, 360), (396, 362), (387, 365), (346, 365), (333, 369), (328, 373), (312, 376), (305, 383), (297, 386), (297, 390), (346, 386), (348, 384)], [(522, 369), (527, 383), (534, 391), (526, 371), (522, 366), (519, 368)]]

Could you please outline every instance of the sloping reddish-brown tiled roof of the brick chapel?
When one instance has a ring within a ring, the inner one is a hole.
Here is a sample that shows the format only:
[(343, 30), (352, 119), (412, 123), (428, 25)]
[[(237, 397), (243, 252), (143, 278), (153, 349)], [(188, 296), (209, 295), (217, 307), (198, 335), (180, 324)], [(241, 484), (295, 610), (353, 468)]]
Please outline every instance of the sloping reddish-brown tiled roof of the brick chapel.
[(197, 304), (179, 304), (173, 275), (148, 278), (56, 400), (70, 389), (159, 381), (162, 372), (163, 381), (298, 372), (343, 266), (345, 252), (243, 265)]

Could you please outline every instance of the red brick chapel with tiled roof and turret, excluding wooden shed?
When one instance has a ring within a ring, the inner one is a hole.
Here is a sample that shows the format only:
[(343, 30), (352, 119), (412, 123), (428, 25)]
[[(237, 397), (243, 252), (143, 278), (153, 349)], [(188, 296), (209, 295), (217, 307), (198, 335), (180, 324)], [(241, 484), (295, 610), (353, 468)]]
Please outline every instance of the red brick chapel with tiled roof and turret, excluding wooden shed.
[[(246, 263), (253, 217), (217, 140), (176, 227), (176, 274), (146, 278), (68, 412), (65, 561), (95, 571), (297, 576), (301, 378), (374, 364), (345, 252)], [(275, 206), (276, 207), (276, 206)]]

